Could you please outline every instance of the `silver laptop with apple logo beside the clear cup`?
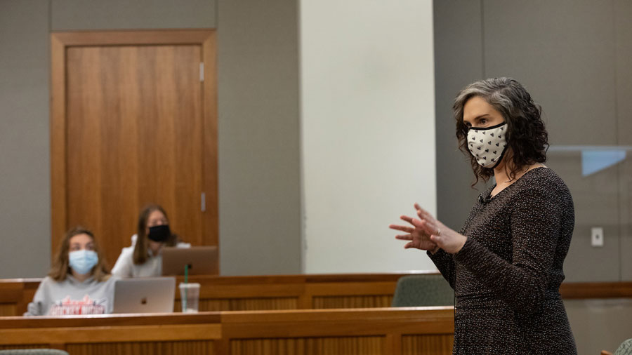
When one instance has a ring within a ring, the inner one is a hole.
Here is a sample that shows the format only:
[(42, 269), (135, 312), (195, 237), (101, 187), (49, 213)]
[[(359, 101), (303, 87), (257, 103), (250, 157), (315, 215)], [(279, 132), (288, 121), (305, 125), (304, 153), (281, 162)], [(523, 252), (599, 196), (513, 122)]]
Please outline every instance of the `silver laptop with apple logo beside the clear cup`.
[(113, 313), (171, 313), (175, 277), (141, 277), (114, 283)]

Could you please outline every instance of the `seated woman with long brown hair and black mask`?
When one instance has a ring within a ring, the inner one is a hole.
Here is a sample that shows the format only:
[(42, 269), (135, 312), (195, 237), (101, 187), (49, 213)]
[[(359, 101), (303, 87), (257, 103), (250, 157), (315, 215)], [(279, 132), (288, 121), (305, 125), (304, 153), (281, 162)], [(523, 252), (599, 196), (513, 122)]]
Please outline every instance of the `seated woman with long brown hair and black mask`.
[(145, 277), (162, 275), (162, 247), (189, 248), (171, 234), (169, 219), (164, 209), (150, 205), (140, 211), (138, 231), (131, 236), (132, 245), (121, 250), (112, 274), (120, 277)]

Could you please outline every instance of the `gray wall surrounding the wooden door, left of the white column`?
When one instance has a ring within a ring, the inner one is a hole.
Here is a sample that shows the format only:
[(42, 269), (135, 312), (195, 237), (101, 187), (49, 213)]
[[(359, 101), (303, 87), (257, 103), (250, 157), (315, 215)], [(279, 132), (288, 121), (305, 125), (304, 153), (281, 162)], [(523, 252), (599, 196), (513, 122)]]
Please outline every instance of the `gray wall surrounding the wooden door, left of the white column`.
[(301, 272), (297, 5), (234, 2), (0, 1), (0, 278), (50, 265), (51, 30), (140, 28), (218, 28), (222, 274)]

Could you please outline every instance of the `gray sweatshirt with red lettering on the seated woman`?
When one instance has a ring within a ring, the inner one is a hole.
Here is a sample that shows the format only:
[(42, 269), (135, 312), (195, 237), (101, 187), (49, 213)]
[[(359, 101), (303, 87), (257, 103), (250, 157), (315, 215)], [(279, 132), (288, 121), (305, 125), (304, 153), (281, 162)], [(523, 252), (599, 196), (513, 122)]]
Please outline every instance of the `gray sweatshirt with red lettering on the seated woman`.
[(64, 281), (46, 276), (39, 283), (33, 302), (25, 316), (70, 316), (78, 314), (112, 313), (114, 283), (117, 277), (96, 281), (92, 277), (79, 282), (72, 275)]

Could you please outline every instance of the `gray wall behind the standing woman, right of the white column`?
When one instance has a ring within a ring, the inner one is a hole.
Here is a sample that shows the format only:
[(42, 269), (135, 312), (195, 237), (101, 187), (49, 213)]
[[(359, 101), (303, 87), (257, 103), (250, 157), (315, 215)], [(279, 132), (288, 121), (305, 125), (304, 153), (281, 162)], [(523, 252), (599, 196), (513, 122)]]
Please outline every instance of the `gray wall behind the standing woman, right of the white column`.
[[(623, 0), (434, 4), (440, 219), (459, 227), (473, 202), (470, 168), (454, 152), (454, 95), (476, 79), (513, 76), (544, 108), (551, 143), (547, 165), (574, 197), (567, 281), (632, 280), (626, 257), (632, 252), (632, 151), (624, 163), (582, 176), (581, 152), (559, 150), (632, 146), (632, 5)], [(604, 227), (603, 248), (591, 246), (591, 227)]]

